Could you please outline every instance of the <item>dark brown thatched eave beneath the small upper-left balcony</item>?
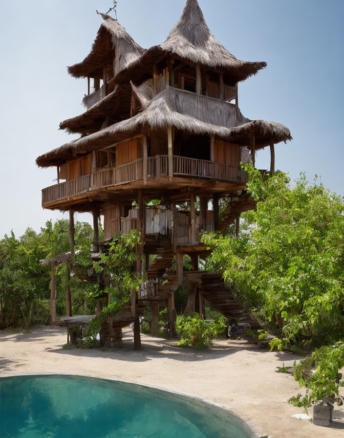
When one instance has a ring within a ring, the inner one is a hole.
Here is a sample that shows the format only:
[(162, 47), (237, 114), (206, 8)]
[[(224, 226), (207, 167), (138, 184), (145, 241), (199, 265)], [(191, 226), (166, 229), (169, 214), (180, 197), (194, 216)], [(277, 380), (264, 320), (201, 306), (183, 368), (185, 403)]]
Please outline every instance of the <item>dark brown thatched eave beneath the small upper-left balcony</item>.
[(107, 115), (114, 120), (116, 117), (122, 120), (121, 113), (127, 114), (130, 110), (131, 94), (130, 84), (116, 85), (111, 93), (87, 111), (61, 122), (60, 129), (67, 130), (69, 134), (88, 134), (99, 131)]

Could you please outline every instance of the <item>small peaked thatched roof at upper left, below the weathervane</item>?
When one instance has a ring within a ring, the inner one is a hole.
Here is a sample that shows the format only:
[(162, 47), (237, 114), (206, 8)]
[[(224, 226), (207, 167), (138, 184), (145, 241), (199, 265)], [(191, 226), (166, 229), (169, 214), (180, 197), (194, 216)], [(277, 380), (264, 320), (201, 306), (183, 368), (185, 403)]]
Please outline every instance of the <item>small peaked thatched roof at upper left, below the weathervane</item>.
[(100, 15), (104, 22), (98, 30), (90, 54), (83, 62), (68, 67), (69, 74), (75, 78), (103, 77), (103, 65), (113, 60), (116, 75), (144, 52), (117, 20), (106, 14)]

